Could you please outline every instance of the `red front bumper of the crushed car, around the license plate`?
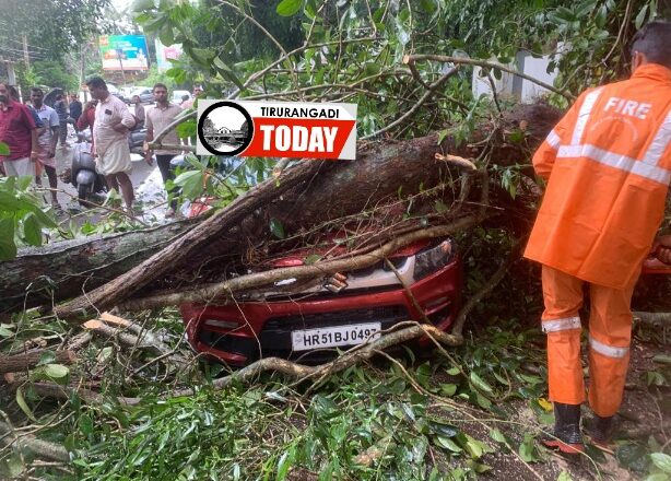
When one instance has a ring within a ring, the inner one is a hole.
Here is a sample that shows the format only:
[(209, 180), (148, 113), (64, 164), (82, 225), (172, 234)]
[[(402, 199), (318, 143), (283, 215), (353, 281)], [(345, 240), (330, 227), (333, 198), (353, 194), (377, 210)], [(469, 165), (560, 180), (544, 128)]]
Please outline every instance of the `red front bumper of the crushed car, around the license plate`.
[[(362, 322), (380, 322), (382, 329), (388, 329), (404, 320), (421, 321), (426, 316), (434, 326), (446, 330), (459, 309), (461, 284), (461, 263), (456, 258), (410, 285), (412, 296), (397, 286), (381, 292), (343, 291), (321, 298), (294, 296), (286, 301), (240, 302), (225, 306), (185, 304), (180, 312), (187, 339), (196, 351), (243, 366), (261, 357), (305, 355), (305, 351), (292, 351), (291, 332), (296, 329)], [(415, 307), (413, 297), (422, 312)], [(232, 328), (233, 324), (237, 327)]]

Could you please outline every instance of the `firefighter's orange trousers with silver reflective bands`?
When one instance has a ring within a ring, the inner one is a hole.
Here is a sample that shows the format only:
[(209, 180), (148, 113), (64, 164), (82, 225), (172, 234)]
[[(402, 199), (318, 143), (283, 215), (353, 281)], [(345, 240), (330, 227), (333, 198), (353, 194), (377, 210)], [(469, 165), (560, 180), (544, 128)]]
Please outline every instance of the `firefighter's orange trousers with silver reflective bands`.
[[(586, 398), (578, 315), (584, 283), (543, 266), (542, 326), (548, 336), (550, 399), (565, 404), (580, 404)], [(624, 290), (589, 284), (588, 399), (600, 417), (615, 414), (622, 403), (629, 364), (633, 291), (634, 284)]]

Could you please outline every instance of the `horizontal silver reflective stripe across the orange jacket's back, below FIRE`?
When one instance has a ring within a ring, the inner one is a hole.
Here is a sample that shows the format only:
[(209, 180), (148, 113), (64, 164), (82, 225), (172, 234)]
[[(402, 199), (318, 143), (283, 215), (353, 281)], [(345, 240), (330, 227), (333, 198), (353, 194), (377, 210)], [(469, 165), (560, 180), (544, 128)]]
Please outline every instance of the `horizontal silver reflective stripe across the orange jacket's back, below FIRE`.
[(557, 159), (570, 157), (587, 157), (600, 164), (645, 177), (664, 186), (671, 183), (671, 171), (668, 168), (657, 167), (626, 155), (609, 152), (589, 143), (584, 145), (562, 145), (557, 152)]

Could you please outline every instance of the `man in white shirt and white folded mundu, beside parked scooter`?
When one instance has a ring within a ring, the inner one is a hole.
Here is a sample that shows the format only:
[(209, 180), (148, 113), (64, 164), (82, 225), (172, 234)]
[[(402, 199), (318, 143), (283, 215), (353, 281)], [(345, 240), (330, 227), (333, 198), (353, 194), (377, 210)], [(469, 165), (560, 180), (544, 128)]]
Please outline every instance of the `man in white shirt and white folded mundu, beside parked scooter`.
[(107, 185), (121, 191), (128, 212), (132, 214), (133, 186), (129, 174), (132, 171), (128, 132), (136, 120), (123, 101), (115, 97), (107, 90), (107, 84), (99, 77), (86, 82), (91, 96), (98, 101), (95, 107), (93, 125), (93, 145), (97, 155), (97, 167), (105, 175)]

